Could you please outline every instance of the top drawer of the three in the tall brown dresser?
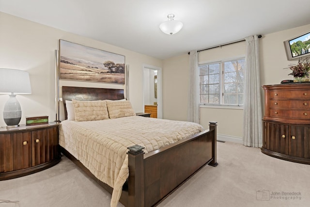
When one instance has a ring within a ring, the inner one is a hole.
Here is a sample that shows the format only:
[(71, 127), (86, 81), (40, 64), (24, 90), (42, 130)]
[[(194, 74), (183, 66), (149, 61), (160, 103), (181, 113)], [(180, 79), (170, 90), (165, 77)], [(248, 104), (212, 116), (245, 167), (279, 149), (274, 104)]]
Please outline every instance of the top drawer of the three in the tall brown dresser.
[(310, 99), (310, 90), (270, 90), (270, 98), (308, 98)]

